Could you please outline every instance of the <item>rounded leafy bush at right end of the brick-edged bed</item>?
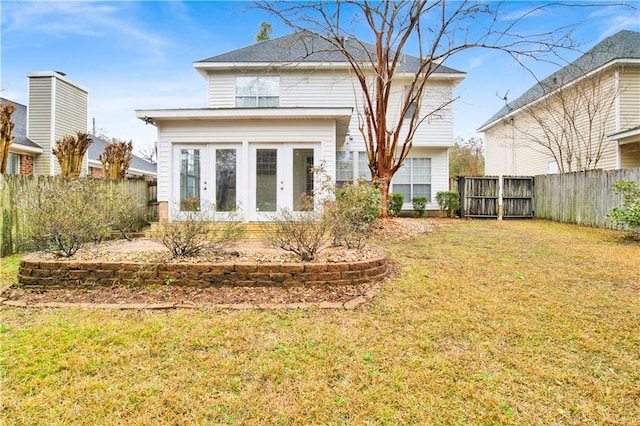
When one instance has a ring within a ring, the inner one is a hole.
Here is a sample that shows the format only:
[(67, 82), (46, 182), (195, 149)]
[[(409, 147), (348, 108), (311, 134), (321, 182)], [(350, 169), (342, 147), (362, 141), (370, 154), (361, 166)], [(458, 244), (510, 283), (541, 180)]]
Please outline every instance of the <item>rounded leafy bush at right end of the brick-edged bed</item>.
[(364, 180), (343, 186), (334, 203), (325, 204), (334, 245), (362, 248), (371, 224), (382, 212), (380, 190)]

